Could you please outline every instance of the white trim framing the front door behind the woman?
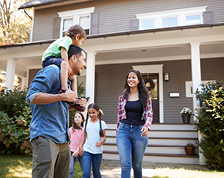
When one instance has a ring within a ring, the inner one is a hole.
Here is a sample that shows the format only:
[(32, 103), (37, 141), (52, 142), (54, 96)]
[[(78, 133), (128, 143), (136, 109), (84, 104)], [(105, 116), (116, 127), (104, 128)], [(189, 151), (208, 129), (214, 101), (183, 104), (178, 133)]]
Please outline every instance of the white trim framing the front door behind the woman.
[(163, 64), (132, 66), (132, 68), (141, 73), (159, 73), (159, 123), (164, 123)]

